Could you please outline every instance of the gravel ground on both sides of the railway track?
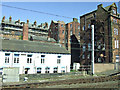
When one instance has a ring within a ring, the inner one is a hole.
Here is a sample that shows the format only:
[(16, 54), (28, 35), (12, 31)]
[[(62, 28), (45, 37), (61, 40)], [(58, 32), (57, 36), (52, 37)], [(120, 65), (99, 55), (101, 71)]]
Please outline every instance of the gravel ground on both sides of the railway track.
[[(46, 77), (46, 78), (40, 78), (39, 76), (29, 78), (28, 81), (20, 80), (20, 82), (15, 83), (3, 83), (3, 85), (14, 85), (14, 84), (24, 84), (24, 83), (35, 83), (35, 82), (47, 82), (47, 81), (59, 81), (59, 80), (70, 80), (70, 79), (81, 79), (81, 78), (91, 78), (91, 77), (98, 77), (98, 76), (107, 76), (112, 73), (115, 73), (118, 71), (107, 71), (102, 73), (97, 73), (94, 76), (91, 75), (82, 75), (80, 73), (72, 74), (72, 75), (58, 75), (54, 77)], [(120, 81), (119, 81), (120, 83)], [(102, 83), (83, 83), (83, 84), (70, 84), (70, 85), (54, 85), (54, 86), (44, 86), (44, 87), (38, 87), (38, 88), (118, 88), (118, 81), (109, 81), (109, 82), (102, 82)]]

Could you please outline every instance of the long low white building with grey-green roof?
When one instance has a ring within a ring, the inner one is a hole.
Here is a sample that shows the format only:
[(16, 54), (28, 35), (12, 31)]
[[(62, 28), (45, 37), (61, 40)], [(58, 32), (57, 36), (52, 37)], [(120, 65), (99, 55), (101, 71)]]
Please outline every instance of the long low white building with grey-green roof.
[(19, 67), (19, 74), (70, 72), (71, 55), (57, 43), (0, 40), (0, 70)]

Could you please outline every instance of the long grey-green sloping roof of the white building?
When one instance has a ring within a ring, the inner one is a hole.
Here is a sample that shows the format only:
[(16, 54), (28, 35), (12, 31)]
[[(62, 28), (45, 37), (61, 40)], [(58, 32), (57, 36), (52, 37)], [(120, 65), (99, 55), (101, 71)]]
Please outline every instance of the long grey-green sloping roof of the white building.
[(57, 43), (0, 39), (2, 51), (70, 54)]

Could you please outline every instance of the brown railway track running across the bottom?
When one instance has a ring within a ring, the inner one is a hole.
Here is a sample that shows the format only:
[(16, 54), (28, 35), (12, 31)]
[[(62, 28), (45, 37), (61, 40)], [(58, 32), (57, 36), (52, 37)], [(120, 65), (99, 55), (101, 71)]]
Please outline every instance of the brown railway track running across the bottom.
[(98, 82), (107, 82), (107, 81), (116, 81), (116, 80), (120, 80), (120, 72), (111, 74), (109, 76), (99, 76), (99, 77), (92, 77), (92, 78), (69, 79), (69, 80), (25, 83), (25, 84), (15, 84), (15, 85), (3, 85), (2, 89), (37, 88), (37, 87), (45, 87), (45, 86), (51, 86), (51, 85), (53, 86), (53, 85), (71, 85), (71, 84), (82, 84), (82, 83), (98, 83)]

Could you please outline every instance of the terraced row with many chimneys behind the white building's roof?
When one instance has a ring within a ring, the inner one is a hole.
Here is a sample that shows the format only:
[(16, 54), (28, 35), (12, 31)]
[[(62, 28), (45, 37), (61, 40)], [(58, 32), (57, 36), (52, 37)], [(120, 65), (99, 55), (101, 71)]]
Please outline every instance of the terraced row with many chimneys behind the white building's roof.
[(34, 40), (34, 41), (53, 41), (55, 40), (48, 38), (48, 23), (41, 23), (37, 25), (35, 21), (34, 24), (27, 22), (21, 22), (20, 19), (17, 21), (2, 18), (0, 37), (7, 39), (23, 39), (23, 40)]

